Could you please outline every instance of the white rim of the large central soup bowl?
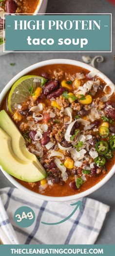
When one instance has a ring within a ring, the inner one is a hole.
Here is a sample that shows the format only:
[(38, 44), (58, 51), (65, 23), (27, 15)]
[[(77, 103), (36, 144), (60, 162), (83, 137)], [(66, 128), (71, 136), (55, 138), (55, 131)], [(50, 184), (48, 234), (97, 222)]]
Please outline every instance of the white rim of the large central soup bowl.
[[(32, 71), (34, 69), (37, 69), (39, 67), (43, 67), (43, 66), (46, 66), (46, 65), (52, 65), (52, 64), (75, 65), (75, 66), (79, 66), (79, 67), (82, 67), (84, 69), (87, 69), (89, 71), (94, 69), (92, 66), (90, 66), (88, 64), (85, 64), (83, 62), (76, 61), (76, 60), (70, 60), (70, 59), (50, 59), (50, 60), (46, 60), (46, 61), (42, 61), (42, 62), (36, 63), (36, 64), (34, 64), (34, 65), (32, 65), (32, 66), (22, 70), (21, 72), (19, 72), (18, 75), (16, 75), (14, 78), (12, 78), (9, 81), (9, 83), (4, 87), (4, 89), (0, 93), (0, 102), (2, 102), (2, 100), (3, 100), (4, 96), (6, 95), (6, 93), (8, 92), (8, 90), (19, 79), (19, 77), (22, 77), (22, 76), (26, 75), (27, 73), (29, 73), (30, 71)], [(110, 83), (111, 82), (108, 77), (106, 77), (104, 74), (102, 74), (99, 71), (98, 71), (98, 76), (100, 78), (102, 78), (106, 83)], [(93, 187), (91, 187), (91, 188), (87, 189), (86, 191), (81, 192), (79, 194), (76, 194), (76, 195), (73, 195), (73, 196), (66, 196), (66, 197), (50, 197), (50, 196), (45, 196), (45, 195), (37, 194), (37, 193), (35, 193), (35, 192), (25, 188), (24, 186), (22, 186), (18, 181), (16, 181), (12, 176), (7, 174), (5, 171), (2, 170), (2, 172), (5, 175), (5, 177), (11, 181), (11, 183), (13, 183), (16, 187), (21, 189), (23, 192), (27, 192), (31, 196), (34, 196), (34, 197), (36, 197), (38, 199), (42, 199), (42, 200), (46, 200), (46, 201), (64, 202), (64, 201), (78, 200), (78, 199), (80, 199), (82, 197), (85, 197), (85, 196), (93, 193), (98, 188), (103, 186), (114, 175), (114, 173), (115, 173), (115, 165), (110, 170), (110, 172), (101, 181), (99, 181), (95, 186), (93, 186)]]

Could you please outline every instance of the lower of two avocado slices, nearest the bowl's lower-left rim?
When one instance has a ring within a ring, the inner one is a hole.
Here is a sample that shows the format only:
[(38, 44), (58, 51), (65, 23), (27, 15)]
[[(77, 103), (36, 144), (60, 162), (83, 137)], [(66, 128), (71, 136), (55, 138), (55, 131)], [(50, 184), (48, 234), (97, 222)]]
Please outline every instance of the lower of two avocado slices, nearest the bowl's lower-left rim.
[(0, 147), (0, 166), (5, 172), (17, 179), (27, 182), (36, 182), (45, 178), (46, 172), (44, 170), (39, 170), (38, 166), (32, 161), (23, 164), (23, 161), (14, 154), (11, 138), (1, 128), (0, 143), (2, 145), (2, 147)]

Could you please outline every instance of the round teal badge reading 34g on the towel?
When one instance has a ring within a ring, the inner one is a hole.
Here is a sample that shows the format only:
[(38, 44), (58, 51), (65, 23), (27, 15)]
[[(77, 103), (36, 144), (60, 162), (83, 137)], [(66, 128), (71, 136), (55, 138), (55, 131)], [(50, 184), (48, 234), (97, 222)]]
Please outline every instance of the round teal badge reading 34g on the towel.
[(35, 213), (32, 208), (21, 206), (15, 211), (14, 221), (21, 228), (30, 227), (35, 221)]

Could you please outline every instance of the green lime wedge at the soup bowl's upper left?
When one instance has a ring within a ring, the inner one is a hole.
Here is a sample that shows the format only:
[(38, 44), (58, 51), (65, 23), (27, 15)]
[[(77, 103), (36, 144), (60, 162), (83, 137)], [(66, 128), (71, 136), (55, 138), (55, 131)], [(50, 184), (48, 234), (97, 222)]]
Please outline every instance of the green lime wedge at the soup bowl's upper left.
[(28, 75), (20, 77), (12, 86), (8, 96), (8, 108), (11, 113), (15, 111), (15, 104), (26, 102), (34, 92), (36, 86), (43, 86), (47, 79), (44, 77)]

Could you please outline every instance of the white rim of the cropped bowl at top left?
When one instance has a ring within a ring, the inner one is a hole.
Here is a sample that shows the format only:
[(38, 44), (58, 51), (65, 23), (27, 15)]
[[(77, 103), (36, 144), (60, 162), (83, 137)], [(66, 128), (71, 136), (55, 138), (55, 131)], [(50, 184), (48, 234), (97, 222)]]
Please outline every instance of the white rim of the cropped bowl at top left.
[[(38, 6), (34, 12), (34, 15), (37, 15), (38, 13), (45, 13), (46, 12), (46, 8), (47, 8), (47, 2), (48, 0), (39, 0), (38, 2)], [(3, 44), (0, 45), (0, 55), (5, 54), (5, 53), (9, 53), (9, 52), (3, 52)]]

